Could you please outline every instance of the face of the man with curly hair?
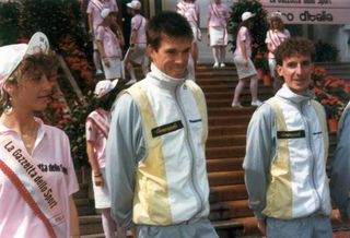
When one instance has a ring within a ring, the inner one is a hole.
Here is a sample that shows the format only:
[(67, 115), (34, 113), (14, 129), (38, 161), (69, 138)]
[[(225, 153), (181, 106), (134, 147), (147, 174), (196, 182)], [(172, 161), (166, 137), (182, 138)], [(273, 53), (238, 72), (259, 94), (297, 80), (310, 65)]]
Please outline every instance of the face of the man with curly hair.
[(313, 70), (311, 57), (301, 55), (285, 58), (282, 66), (277, 66), (277, 72), (283, 76), (287, 86), (299, 95), (305, 95)]

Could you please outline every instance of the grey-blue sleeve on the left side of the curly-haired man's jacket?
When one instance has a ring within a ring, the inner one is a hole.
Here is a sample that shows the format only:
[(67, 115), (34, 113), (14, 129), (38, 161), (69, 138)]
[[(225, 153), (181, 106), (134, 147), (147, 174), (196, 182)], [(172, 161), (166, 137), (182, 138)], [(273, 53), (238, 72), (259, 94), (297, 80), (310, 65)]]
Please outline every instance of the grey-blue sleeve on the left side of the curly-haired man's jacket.
[(258, 219), (266, 206), (266, 190), (269, 167), (276, 153), (275, 116), (268, 104), (262, 104), (253, 115), (248, 130), (246, 155), (243, 163), (249, 207)]

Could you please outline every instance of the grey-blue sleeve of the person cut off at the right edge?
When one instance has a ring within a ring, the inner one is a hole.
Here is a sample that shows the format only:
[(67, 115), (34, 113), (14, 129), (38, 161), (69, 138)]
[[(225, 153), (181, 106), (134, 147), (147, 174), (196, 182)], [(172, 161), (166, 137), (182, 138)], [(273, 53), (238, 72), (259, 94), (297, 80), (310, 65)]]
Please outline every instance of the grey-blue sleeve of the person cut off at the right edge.
[[(342, 118), (338, 144), (331, 166), (330, 194), (338, 209), (346, 213), (350, 209), (350, 109)], [(348, 211), (350, 217), (350, 211)]]

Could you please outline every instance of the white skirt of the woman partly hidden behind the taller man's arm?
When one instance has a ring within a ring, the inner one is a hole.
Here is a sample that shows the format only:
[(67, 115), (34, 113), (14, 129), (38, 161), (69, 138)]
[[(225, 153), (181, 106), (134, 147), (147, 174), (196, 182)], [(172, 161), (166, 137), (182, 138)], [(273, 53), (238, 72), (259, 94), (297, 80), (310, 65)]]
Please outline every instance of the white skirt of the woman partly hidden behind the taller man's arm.
[(103, 187), (95, 186), (95, 178), (94, 178), (94, 175), (92, 174), (92, 188), (94, 190), (95, 209), (109, 209), (110, 200), (109, 200), (109, 192), (107, 188), (105, 168), (100, 168), (100, 172), (104, 180)]

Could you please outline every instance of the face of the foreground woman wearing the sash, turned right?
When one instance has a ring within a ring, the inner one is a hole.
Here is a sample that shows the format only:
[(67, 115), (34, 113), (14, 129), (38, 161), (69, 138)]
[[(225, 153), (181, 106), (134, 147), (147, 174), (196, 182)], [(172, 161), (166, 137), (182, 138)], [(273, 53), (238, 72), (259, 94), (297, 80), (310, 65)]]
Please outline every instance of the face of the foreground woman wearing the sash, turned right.
[(10, 94), (13, 109), (42, 111), (51, 102), (56, 75), (48, 79), (44, 73), (27, 74), (23, 75), (26, 79), (23, 79), (18, 86), (13, 86)]

